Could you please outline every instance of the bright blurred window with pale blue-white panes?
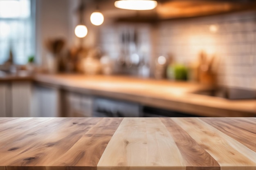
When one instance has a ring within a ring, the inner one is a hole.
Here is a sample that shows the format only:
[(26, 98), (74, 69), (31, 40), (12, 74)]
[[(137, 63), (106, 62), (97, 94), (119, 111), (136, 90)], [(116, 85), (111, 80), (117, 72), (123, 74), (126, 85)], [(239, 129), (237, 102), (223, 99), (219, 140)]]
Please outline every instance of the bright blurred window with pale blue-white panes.
[(0, 0), (0, 64), (13, 52), (14, 64), (26, 64), (34, 55), (31, 0)]

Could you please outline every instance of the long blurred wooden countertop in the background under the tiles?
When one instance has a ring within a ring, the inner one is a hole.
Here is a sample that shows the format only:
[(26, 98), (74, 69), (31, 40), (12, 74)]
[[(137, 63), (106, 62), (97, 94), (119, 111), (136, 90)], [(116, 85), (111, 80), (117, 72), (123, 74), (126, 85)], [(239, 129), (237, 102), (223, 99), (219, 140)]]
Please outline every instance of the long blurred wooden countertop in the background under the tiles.
[(207, 117), (254, 117), (256, 100), (228, 100), (191, 92), (209, 87), (191, 82), (141, 79), (125, 76), (44, 75), (34, 80), (88, 95), (138, 102)]

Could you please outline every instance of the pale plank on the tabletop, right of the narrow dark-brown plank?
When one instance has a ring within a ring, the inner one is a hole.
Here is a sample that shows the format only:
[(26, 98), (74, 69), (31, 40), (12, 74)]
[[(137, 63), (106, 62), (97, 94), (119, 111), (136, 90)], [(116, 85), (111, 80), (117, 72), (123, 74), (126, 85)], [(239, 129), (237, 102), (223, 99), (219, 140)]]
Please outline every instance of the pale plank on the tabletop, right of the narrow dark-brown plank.
[(171, 118), (218, 163), (221, 170), (255, 170), (256, 152), (198, 118)]

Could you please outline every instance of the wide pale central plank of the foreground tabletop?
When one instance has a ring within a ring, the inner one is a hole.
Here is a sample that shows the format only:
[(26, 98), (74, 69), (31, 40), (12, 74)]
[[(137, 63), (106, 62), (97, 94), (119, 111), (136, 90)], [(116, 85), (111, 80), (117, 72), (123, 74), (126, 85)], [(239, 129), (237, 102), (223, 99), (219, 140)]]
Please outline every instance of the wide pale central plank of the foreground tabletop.
[(98, 170), (185, 170), (184, 160), (159, 118), (124, 118), (110, 140)]

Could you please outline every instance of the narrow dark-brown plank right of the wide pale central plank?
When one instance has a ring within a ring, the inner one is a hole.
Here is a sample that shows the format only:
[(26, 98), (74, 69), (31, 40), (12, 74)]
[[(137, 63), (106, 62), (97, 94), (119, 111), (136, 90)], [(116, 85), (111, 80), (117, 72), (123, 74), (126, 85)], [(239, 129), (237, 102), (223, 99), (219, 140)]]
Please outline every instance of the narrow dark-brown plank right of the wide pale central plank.
[(179, 148), (186, 162), (186, 170), (220, 170), (218, 162), (211, 157), (196, 141), (178, 126), (171, 118), (160, 118), (171, 133), (175, 144)]

